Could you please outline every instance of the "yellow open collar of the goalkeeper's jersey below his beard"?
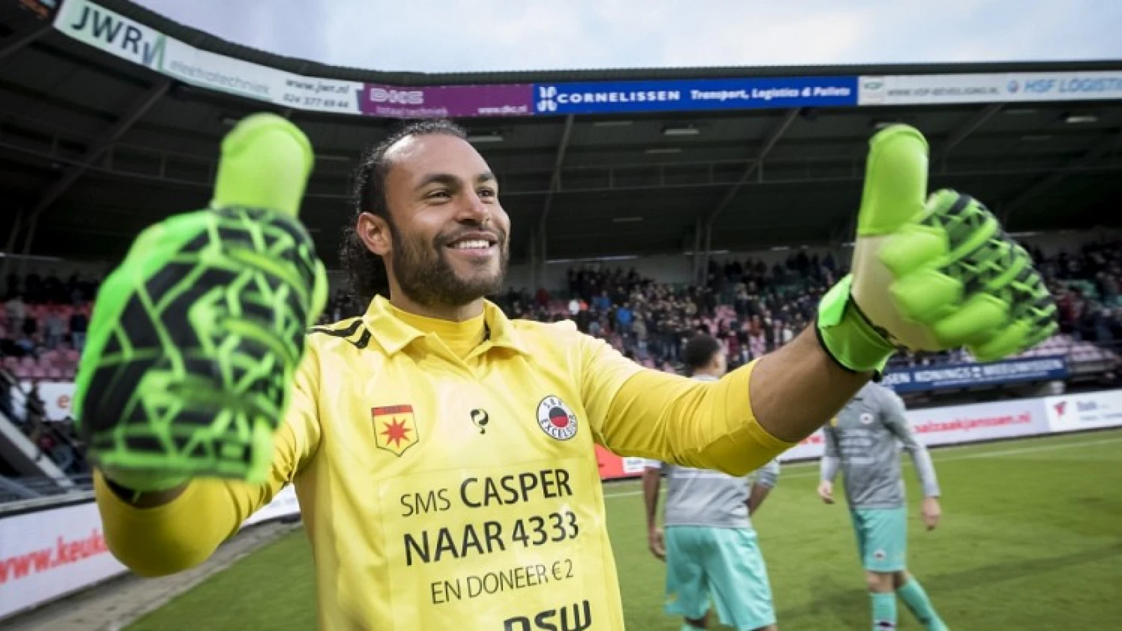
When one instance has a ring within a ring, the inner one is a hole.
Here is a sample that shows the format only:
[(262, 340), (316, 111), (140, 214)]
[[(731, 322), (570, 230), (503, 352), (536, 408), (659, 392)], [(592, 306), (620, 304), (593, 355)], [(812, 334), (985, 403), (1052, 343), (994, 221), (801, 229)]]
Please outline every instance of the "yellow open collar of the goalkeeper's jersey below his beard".
[(484, 302), (480, 316), (452, 322), (402, 311), (379, 295), (370, 302), (366, 321), (374, 340), (387, 355), (395, 355), (422, 338), (440, 339), (453, 355), (465, 360), (494, 347), (528, 354), (511, 320), (489, 301)]

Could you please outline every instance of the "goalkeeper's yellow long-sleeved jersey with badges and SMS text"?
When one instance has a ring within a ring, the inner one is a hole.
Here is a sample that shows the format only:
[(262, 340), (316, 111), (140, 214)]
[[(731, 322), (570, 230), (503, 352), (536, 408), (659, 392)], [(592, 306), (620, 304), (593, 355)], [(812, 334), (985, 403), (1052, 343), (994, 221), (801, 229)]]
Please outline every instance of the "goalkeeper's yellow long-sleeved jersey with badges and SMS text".
[(618, 630), (594, 443), (745, 474), (790, 447), (753, 418), (751, 373), (688, 379), (571, 322), (488, 303), (454, 324), (376, 299), (310, 333), (268, 484), (195, 481), (136, 509), (99, 478), (98, 503), (113, 554), (157, 575), (294, 484), (325, 630)]

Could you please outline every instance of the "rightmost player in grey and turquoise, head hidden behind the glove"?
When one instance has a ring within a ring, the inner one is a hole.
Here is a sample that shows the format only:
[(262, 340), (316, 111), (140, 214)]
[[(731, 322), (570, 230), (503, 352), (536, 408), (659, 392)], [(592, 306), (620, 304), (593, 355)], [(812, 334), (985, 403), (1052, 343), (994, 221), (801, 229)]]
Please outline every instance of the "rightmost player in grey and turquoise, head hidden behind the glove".
[(928, 530), (938, 525), (941, 509), (931, 456), (916, 439), (903, 401), (884, 386), (866, 384), (822, 432), (826, 455), (818, 495), (827, 504), (834, 503), (834, 478), (840, 470), (872, 598), (873, 629), (896, 628), (896, 595), (929, 631), (947, 629), (907, 570), (908, 509), (901, 446), (911, 456), (923, 488), (921, 515)]

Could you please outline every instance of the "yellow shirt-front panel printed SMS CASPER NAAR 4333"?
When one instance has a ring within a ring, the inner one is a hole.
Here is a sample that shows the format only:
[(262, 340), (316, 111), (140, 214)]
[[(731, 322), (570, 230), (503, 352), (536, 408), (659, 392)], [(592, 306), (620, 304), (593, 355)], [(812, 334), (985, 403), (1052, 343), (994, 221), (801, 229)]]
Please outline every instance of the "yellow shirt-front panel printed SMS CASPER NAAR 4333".
[(569, 458), (383, 481), (395, 628), (608, 628), (595, 473)]

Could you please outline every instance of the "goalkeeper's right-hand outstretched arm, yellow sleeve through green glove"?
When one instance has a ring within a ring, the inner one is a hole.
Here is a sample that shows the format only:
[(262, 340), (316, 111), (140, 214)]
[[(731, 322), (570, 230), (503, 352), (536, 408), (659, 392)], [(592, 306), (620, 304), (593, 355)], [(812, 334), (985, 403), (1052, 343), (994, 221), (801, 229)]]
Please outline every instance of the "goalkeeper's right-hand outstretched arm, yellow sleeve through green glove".
[[(1051, 335), (1056, 307), (1028, 253), (977, 201), (953, 191), (928, 198), (927, 168), (916, 129), (874, 136), (853, 273), (824, 296), (815, 326), (717, 383), (642, 371), (607, 404), (586, 396), (604, 419), (603, 441), (617, 454), (743, 475), (826, 423), (898, 347), (965, 346), (990, 362)], [(599, 363), (611, 364), (585, 364)], [(618, 384), (619, 372), (586, 369), (586, 392)]]

